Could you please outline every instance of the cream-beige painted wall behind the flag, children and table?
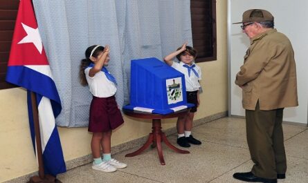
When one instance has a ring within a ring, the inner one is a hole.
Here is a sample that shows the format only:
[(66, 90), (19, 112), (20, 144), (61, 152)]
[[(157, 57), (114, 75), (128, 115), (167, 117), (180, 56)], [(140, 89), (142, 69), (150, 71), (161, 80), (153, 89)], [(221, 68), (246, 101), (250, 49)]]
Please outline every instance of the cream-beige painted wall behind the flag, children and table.
[[(227, 110), (227, 1), (217, 1), (217, 61), (201, 66), (203, 93), (194, 119), (201, 119)], [(26, 91), (22, 88), (0, 90), (0, 182), (37, 171), (33, 145), (30, 140)], [(176, 119), (165, 120), (163, 128), (175, 126)], [(125, 124), (112, 136), (111, 145), (123, 144), (147, 135), (150, 121), (125, 117)], [(89, 155), (91, 133), (87, 128), (58, 128), (65, 161)], [(22, 164), (19, 164), (22, 162)]]

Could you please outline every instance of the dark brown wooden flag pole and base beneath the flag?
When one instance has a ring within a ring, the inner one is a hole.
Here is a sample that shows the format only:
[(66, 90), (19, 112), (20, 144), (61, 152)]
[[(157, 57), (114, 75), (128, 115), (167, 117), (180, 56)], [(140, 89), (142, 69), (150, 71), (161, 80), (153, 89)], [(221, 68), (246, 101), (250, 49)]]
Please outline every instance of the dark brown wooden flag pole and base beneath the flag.
[(57, 180), (52, 175), (45, 175), (44, 173), (44, 161), (43, 161), (43, 153), (42, 153), (42, 142), (41, 142), (41, 133), (39, 131), (39, 112), (37, 109), (37, 97), (36, 94), (31, 91), (31, 104), (33, 110), (33, 122), (34, 122), (34, 130), (35, 130), (35, 141), (37, 148), (37, 160), (39, 163), (39, 176), (35, 175), (30, 177), (28, 183), (49, 183), (56, 182), (61, 183), (60, 180)]

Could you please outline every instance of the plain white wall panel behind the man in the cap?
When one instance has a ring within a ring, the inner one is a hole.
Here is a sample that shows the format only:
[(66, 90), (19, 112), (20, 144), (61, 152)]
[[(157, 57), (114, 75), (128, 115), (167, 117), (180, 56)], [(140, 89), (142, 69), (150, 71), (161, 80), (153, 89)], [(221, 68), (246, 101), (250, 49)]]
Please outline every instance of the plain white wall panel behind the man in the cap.
[(228, 0), (228, 46), (229, 46), (229, 114), (244, 116), (242, 90), (235, 86), (235, 75), (243, 64), (249, 39), (239, 24), (245, 10), (258, 8), (271, 12), (275, 17), (275, 28), (287, 35), (293, 44), (298, 78), (298, 102), (296, 108), (284, 110), (284, 121), (307, 124), (308, 112), (308, 1), (298, 0)]

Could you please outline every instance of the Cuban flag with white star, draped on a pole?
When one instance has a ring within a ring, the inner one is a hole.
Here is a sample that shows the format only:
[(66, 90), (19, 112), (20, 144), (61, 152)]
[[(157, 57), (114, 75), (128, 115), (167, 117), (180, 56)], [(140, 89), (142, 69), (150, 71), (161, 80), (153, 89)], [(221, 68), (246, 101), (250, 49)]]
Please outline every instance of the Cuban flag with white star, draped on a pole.
[(66, 171), (55, 117), (62, 110), (60, 97), (51, 75), (42, 39), (35, 19), (32, 2), (21, 0), (12, 39), (6, 81), (28, 90), (30, 132), (35, 148), (35, 132), (30, 92), (37, 96), (39, 130), (46, 174)]

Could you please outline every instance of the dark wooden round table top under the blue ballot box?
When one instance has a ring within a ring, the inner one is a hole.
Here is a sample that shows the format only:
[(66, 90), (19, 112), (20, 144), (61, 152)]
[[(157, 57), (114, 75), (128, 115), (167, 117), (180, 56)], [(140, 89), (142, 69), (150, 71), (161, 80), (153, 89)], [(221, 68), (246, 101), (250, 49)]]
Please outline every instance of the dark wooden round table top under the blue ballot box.
[(129, 110), (129, 109), (123, 108), (123, 113), (131, 117), (138, 117), (138, 118), (143, 118), (143, 119), (165, 119), (165, 118), (179, 117), (179, 115), (183, 113), (187, 113), (188, 110), (190, 110), (190, 108), (185, 108), (183, 110), (179, 110), (174, 113), (167, 114), (167, 115), (161, 115), (161, 114), (145, 113), (141, 111)]

